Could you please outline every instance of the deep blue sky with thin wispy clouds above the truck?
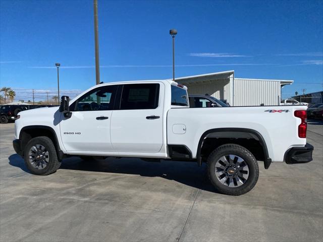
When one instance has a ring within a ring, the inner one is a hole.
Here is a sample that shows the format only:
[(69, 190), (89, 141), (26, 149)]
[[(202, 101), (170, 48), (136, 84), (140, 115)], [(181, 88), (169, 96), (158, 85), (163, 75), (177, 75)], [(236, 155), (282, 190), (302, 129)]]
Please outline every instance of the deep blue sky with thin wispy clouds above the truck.
[[(283, 97), (323, 89), (323, 1), (98, 1), (101, 81), (235, 70), (287, 79)], [(17, 99), (95, 84), (92, 1), (0, 0), (0, 86)]]

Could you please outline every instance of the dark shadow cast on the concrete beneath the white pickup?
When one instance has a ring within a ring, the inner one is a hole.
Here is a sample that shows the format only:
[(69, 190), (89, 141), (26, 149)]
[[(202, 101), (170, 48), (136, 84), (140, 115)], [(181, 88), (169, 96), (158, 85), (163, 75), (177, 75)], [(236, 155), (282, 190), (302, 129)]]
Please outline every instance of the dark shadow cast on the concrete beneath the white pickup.
[[(17, 154), (12, 154), (9, 157), (9, 164), (30, 173), (24, 160)], [(217, 193), (207, 178), (206, 165), (202, 164), (199, 167), (196, 162), (167, 160), (146, 162), (139, 158), (118, 159), (113, 157), (104, 160), (82, 160), (78, 157), (70, 157), (63, 159), (60, 169), (163, 177), (190, 187)]]

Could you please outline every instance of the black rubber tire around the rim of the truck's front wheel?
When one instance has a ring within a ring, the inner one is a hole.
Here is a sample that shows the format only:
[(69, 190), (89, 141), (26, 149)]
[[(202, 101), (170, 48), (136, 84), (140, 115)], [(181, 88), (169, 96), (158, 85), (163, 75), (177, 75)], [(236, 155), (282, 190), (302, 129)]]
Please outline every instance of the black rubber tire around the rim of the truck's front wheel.
[[(42, 169), (37, 169), (33, 167), (29, 161), (29, 150), (32, 146), (40, 144), (46, 148), (49, 154), (49, 161), (46, 167)], [(58, 159), (55, 145), (52, 143), (51, 139), (46, 136), (39, 136), (31, 139), (24, 150), (24, 159), (27, 168), (30, 170), (32, 174), (35, 175), (49, 175), (51, 173), (56, 172), (61, 166), (61, 160)]]

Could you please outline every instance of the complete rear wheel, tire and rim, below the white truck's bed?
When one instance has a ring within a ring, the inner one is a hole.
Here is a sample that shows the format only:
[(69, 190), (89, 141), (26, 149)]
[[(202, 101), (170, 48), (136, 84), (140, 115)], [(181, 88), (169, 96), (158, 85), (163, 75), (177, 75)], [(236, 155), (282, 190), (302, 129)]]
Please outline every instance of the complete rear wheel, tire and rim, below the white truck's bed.
[(208, 156), (207, 173), (211, 184), (220, 193), (238, 196), (256, 185), (259, 167), (249, 150), (240, 145), (226, 144)]

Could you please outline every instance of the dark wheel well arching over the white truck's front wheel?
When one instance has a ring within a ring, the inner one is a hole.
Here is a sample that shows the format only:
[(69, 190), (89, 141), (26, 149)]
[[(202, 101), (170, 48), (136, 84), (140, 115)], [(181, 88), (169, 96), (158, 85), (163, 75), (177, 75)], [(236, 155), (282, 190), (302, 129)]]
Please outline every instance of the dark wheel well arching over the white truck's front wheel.
[(60, 156), (60, 147), (59, 147), (59, 144), (58, 144), (58, 140), (57, 140), (57, 137), (56, 135), (53, 133), (52, 129), (51, 128), (26, 128), (26, 129), (23, 129), (21, 132), (20, 132), (20, 135), (19, 135), (19, 139), (20, 139), (20, 144), (21, 144), (21, 150), (24, 150), (26, 145), (28, 144), (28, 142), (35, 138), (35, 137), (39, 137), (39, 136), (46, 136), (48, 137), (49, 139), (51, 139), (52, 143), (54, 144), (55, 146), (55, 149), (58, 153), (58, 157), (61, 157)]

